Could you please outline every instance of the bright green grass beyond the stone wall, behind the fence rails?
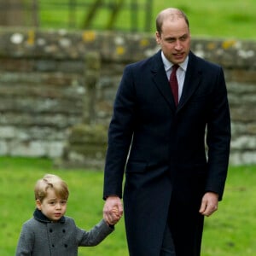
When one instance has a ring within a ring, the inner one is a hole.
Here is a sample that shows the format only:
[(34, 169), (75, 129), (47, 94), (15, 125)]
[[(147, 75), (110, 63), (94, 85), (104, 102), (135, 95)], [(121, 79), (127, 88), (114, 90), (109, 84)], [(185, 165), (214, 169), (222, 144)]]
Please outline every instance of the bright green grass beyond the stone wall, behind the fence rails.
[[(40, 24), (44, 28), (49, 27), (68, 27), (70, 13), (68, 5), (70, 0), (44, 0), (40, 1)], [(116, 1), (116, 0), (115, 0)], [(138, 0), (139, 9), (137, 14), (137, 30), (144, 31), (145, 14), (144, 4), (147, 0)], [(90, 4), (94, 0), (76, 0), (77, 3)], [(106, 0), (104, 3), (114, 2), (114, 0)], [(53, 4), (58, 5), (53, 5)], [(62, 5), (60, 5), (62, 3)], [(115, 23), (115, 29), (129, 31), (131, 30), (131, 14), (132, 20), (135, 20), (135, 11), (128, 9), (131, 1), (125, 1), (125, 9), (123, 9)], [(147, 22), (150, 26), (150, 32), (154, 33), (155, 16), (161, 9), (167, 7), (177, 7), (189, 16), (190, 28), (192, 36), (214, 37), (214, 38), (238, 38), (238, 39), (256, 39), (256, 2), (254, 0), (173, 0), (170, 1), (153, 1), (152, 17)], [(84, 18), (88, 12), (88, 6), (77, 7), (73, 12), (73, 26), (71, 28), (82, 28)], [(92, 22), (92, 29), (104, 29), (108, 23), (110, 9), (101, 9), (97, 12), (96, 19)]]

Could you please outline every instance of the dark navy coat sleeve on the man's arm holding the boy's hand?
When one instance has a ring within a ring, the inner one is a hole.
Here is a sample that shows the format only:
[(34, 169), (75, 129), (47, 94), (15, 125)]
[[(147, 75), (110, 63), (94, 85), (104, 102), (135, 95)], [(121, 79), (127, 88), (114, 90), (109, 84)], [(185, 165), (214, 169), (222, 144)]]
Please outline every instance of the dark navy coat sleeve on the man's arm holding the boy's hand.
[(132, 66), (125, 67), (123, 78), (113, 103), (113, 117), (108, 129), (108, 151), (104, 172), (103, 198), (122, 197), (125, 163), (134, 129), (136, 92)]

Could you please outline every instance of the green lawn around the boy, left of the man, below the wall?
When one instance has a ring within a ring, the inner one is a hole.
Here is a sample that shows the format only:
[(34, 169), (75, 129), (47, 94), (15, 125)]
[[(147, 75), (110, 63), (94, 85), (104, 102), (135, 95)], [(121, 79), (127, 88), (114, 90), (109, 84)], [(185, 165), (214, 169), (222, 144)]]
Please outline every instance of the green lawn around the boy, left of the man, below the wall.
[[(0, 158), (0, 255), (15, 255), (21, 225), (35, 208), (33, 187), (45, 173), (55, 173), (67, 181), (70, 196), (67, 215), (84, 230), (102, 218), (102, 172), (55, 170), (50, 160)], [(79, 256), (127, 255), (123, 219), (114, 233), (97, 247), (79, 248)]]

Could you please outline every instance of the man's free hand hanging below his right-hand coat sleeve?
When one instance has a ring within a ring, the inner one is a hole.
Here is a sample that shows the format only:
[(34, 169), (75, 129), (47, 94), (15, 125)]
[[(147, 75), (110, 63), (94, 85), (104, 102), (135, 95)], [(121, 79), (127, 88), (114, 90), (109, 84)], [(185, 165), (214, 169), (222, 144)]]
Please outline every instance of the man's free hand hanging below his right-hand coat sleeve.
[(209, 217), (213, 212), (218, 210), (218, 194), (207, 192), (202, 200), (199, 212), (202, 215)]

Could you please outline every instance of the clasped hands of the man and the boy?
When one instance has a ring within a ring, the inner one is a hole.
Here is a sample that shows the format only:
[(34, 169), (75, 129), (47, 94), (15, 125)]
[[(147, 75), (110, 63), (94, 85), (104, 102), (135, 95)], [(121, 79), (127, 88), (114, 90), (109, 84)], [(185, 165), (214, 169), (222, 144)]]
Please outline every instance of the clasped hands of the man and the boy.
[(117, 224), (123, 215), (123, 205), (118, 196), (108, 196), (103, 207), (103, 218), (108, 224)]

